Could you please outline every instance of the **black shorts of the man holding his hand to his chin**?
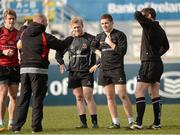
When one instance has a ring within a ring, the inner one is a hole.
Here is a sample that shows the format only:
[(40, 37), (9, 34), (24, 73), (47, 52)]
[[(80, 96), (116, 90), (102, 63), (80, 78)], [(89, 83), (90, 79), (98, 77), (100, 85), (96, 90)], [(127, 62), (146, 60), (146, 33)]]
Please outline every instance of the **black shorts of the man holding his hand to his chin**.
[(126, 75), (124, 70), (117, 68), (113, 70), (99, 70), (98, 84), (105, 86), (108, 84), (126, 84)]

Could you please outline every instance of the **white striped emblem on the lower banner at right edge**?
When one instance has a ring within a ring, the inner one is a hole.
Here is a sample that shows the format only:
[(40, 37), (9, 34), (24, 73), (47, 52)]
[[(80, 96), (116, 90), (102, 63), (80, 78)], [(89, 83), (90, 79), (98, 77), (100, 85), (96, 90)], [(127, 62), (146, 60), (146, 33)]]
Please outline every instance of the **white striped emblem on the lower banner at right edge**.
[(180, 72), (165, 72), (161, 77), (160, 95), (167, 98), (180, 98)]

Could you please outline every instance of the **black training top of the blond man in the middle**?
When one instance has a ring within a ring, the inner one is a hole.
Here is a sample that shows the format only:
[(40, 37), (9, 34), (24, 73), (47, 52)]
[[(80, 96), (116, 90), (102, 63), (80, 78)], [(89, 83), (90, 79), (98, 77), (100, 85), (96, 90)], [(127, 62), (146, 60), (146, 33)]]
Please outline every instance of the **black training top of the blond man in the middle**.
[[(71, 44), (66, 44), (64, 53), (69, 53), (69, 71), (89, 71), (96, 63), (95, 53), (90, 49), (93, 39), (93, 35), (85, 32), (82, 36), (74, 37)], [(64, 64), (59, 51), (56, 53), (56, 60)]]

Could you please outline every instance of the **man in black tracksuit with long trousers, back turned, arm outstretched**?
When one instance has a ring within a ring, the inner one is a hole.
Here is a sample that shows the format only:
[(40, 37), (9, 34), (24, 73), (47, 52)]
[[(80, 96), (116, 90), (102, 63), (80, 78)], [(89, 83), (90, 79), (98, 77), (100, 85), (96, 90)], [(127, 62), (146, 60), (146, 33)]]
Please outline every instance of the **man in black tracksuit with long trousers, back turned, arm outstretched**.
[(32, 133), (43, 131), (43, 100), (47, 92), (49, 49), (64, 51), (64, 46), (71, 43), (69, 37), (58, 40), (45, 32), (47, 19), (44, 15), (34, 15), (33, 22), (21, 36), (21, 91), (17, 100), (15, 121), (12, 131), (19, 132), (26, 122), (30, 98), (32, 95)]

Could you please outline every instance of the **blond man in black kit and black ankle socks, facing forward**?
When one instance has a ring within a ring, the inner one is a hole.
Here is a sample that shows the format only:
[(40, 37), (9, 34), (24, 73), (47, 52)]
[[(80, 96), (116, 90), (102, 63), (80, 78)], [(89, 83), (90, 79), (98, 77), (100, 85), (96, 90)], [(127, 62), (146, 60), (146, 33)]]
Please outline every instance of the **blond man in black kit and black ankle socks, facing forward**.
[[(81, 17), (74, 17), (70, 22), (72, 28), (73, 42), (66, 44), (66, 51), (69, 52), (69, 80), (68, 88), (73, 89), (76, 97), (76, 106), (79, 111), (80, 126), (76, 128), (87, 128), (86, 103), (91, 115), (92, 128), (98, 128), (96, 103), (93, 98), (94, 76), (89, 72), (92, 65), (96, 63), (95, 54), (91, 51), (90, 45), (94, 36), (83, 31), (83, 20)], [(66, 52), (65, 51), (65, 52)], [(65, 53), (64, 52), (64, 53)], [(61, 72), (65, 70), (64, 61), (59, 52), (56, 59), (60, 63)]]

